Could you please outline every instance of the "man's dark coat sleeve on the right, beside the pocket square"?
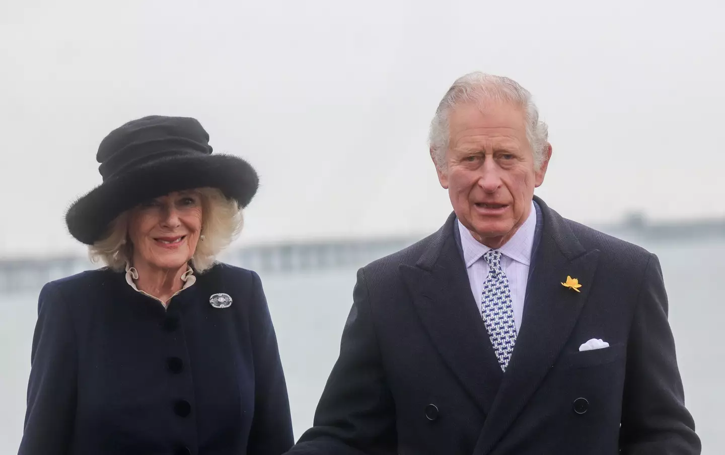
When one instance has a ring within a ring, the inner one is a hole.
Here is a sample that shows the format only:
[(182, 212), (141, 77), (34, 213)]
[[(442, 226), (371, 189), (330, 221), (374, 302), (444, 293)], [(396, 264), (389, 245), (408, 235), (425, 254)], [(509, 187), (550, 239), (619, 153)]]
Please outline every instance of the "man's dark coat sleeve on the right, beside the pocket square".
[(668, 301), (657, 256), (650, 256), (629, 335), (620, 431), (621, 454), (700, 454), (684, 405)]

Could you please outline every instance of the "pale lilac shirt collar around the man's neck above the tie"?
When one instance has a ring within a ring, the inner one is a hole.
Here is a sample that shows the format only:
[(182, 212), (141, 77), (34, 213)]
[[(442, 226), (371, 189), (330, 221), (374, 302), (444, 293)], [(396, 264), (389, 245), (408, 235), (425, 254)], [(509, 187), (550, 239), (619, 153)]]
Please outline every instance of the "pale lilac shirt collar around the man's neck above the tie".
[[(460, 243), (463, 247), (463, 259), (465, 260), (465, 267), (468, 268), (481, 259), (490, 248), (473, 238), (471, 232), (465, 228), (460, 220), (457, 220), (457, 222), (458, 231), (460, 232)], [(518, 228), (513, 234), (513, 237), (504, 243), (498, 251), (516, 262), (531, 265), (531, 249), (534, 247), (534, 233), (536, 228), (537, 210), (534, 206), (534, 201), (531, 201), (529, 217), (523, 222), (521, 228)]]

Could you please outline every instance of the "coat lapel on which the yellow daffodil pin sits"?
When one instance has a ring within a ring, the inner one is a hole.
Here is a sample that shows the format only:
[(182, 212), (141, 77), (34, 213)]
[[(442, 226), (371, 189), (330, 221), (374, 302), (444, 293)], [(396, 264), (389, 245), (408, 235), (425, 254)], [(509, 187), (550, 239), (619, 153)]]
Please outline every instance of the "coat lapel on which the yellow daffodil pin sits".
[[(521, 330), (475, 454), (487, 454), (555, 364), (592, 287), (599, 250), (586, 251), (559, 214), (537, 198), (543, 226), (527, 284)], [(578, 278), (579, 293), (564, 287)]]

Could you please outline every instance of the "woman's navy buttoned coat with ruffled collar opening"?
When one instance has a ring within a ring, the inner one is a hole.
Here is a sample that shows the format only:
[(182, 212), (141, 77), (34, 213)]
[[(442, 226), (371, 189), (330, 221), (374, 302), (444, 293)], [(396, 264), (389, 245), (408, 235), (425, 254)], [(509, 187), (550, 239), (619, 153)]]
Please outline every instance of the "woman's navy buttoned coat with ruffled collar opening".
[[(214, 293), (233, 299), (210, 305)], [(292, 444), (260, 277), (217, 264), (167, 309), (107, 269), (46, 284), (20, 455), (276, 455)]]

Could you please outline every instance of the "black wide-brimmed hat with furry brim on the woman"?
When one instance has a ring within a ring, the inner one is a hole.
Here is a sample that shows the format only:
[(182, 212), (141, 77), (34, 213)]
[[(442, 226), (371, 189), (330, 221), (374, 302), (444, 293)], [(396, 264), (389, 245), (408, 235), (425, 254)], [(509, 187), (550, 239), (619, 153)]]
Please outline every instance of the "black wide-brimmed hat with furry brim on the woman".
[(218, 188), (244, 208), (259, 187), (254, 168), (238, 156), (212, 154), (209, 135), (189, 117), (132, 120), (101, 141), (96, 154), (103, 183), (65, 215), (70, 234), (92, 245), (110, 222), (149, 199), (192, 188)]

